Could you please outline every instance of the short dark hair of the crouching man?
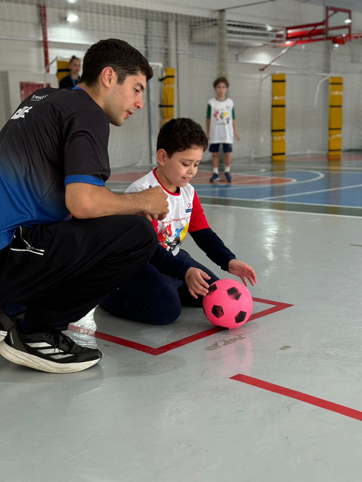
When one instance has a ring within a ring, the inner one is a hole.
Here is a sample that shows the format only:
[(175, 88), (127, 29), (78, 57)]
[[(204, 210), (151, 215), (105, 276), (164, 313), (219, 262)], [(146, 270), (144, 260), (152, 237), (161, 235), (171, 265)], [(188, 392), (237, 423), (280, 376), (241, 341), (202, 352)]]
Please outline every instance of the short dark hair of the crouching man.
[(148, 60), (124, 40), (99, 40), (86, 51), (83, 59), (83, 73), (80, 82), (96, 87), (99, 74), (104, 67), (112, 67), (122, 84), (126, 77), (139, 72), (152, 79), (153, 70)]

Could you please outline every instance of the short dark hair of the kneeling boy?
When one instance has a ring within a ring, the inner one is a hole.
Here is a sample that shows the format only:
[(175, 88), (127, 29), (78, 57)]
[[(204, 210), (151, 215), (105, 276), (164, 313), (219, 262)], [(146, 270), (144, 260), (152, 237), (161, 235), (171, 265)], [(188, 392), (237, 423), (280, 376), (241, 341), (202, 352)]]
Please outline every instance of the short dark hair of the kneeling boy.
[(166, 122), (157, 137), (157, 150), (165, 149), (168, 157), (175, 152), (182, 152), (195, 146), (202, 147), (205, 152), (208, 145), (208, 139), (201, 125), (185, 117)]

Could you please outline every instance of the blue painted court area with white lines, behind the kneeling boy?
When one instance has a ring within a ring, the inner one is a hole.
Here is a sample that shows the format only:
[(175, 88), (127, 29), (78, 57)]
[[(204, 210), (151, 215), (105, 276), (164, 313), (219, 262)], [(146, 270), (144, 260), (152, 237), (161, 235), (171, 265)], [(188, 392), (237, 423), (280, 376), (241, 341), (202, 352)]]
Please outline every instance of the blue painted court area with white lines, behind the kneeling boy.
[(330, 206), (362, 207), (362, 172), (286, 170), (267, 171), (259, 176), (292, 178), (284, 184), (263, 186), (233, 186), (193, 183), (199, 196), (279, 201), (285, 203), (320, 204)]

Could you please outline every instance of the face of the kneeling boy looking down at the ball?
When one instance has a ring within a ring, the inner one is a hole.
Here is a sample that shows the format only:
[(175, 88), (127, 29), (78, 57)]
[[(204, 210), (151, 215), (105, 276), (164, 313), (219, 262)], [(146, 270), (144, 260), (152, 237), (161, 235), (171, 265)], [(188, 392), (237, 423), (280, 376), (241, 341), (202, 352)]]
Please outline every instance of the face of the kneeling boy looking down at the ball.
[(158, 163), (167, 180), (177, 187), (186, 186), (197, 173), (204, 150), (202, 147), (186, 149), (167, 156), (164, 149), (157, 152)]

